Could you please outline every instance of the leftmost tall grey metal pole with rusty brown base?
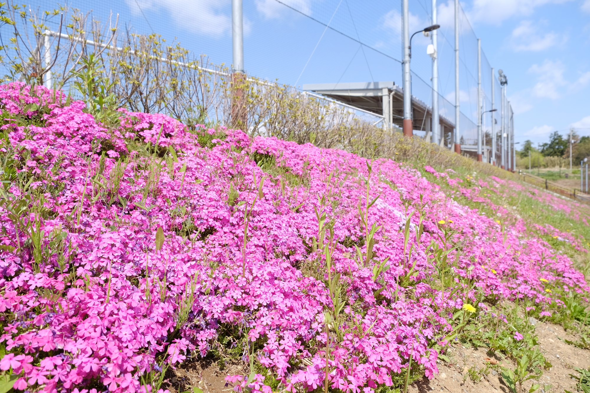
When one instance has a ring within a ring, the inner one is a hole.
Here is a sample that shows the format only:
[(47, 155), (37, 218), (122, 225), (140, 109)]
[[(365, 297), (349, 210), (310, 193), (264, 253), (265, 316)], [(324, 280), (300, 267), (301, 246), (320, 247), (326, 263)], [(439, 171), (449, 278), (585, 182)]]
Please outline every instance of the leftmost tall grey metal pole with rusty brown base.
[(246, 113), (244, 110), (244, 18), (242, 15), (242, 0), (231, 0), (231, 41), (232, 41), (232, 94), (231, 117), (234, 127), (247, 130)]

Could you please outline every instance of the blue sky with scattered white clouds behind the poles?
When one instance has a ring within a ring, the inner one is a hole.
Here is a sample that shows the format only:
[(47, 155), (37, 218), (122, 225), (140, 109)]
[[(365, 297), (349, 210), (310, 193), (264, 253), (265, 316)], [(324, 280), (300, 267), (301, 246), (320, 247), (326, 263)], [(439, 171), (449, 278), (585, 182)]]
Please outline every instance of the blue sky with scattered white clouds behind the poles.
[[(244, 0), (245, 68), (255, 76), (304, 83), (395, 81), (401, 84), (401, 2), (281, 0), (368, 45), (360, 45), (277, 0)], [(40, 8), (54, 2), (37, 0)], [(431, 0), (409, 0), (410, 28), (430, 25)], [(95, 18), (119, 14), (120, 27), (152, 31), (214, 63), (231, 64), (231, 0), (73, 0)], [(516, 141), (544, 142), (554, 130), (590, 135), (590, 0), (468, 0), (461, 2), (461, 111), (476, 113), (477, 41), (483, 83), (501, 68), (515, 117)], [(440, 1), (440, 91), (454, 101), (453, 4)], [(429, 38), (413, 42), (412, 93), (430, 104)], [(312, 55), (313, 54), (313, 55)], [(486, 66), (489, 64), (489, 66)], [(497, 75), (497, 74), (496, 74)], [(489, 94), (487, 94), (489, 96)], [(486, 105), (489, 105), (487, 103)], [(487, 106), (489, 109), (489, 106)], [(499, 114), (498, 114), (499, 115)]]

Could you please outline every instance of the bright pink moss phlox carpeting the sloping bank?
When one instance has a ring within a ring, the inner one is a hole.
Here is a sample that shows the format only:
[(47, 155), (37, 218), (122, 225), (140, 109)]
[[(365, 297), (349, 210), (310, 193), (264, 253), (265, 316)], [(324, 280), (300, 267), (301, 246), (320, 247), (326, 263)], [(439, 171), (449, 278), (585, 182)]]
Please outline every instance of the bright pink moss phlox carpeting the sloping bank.
[(548, 238), (585, 241), (487, 198), (502, 179), (162, 114), (107, 127), (19, 83), (0, 100), (0, 383), (17, 390), (163, 391), (212, 356), (248, 365), (236, 391), (393, 391), (451, 340), (532, 348), (504, 300), (550, 318), (588, 291)]

